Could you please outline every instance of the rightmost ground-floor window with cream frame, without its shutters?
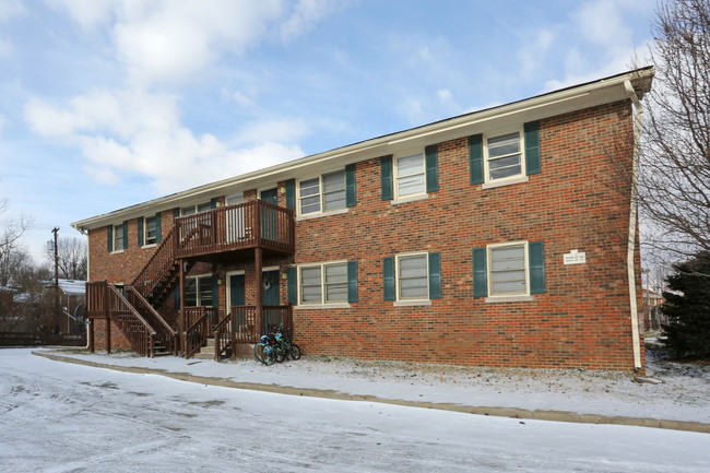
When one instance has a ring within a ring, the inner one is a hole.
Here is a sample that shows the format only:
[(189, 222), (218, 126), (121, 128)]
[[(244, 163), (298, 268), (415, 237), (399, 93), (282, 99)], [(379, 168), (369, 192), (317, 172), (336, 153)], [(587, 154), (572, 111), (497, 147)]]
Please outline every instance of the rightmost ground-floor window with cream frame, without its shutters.
[(488, 296), (530, 295), (528, 241), (488, 245)]

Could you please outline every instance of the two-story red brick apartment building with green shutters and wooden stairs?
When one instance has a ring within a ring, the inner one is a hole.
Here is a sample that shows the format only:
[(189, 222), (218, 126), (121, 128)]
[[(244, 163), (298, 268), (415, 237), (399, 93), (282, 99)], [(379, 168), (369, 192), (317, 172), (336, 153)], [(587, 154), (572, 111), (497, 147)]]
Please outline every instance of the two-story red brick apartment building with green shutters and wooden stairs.
[(642, 370), (634, 104), (652, 76), (75, 222), (88, 235), (92, 344), (191, 356), (216, 336), (220, 357), (283, 323), (306, 354)]

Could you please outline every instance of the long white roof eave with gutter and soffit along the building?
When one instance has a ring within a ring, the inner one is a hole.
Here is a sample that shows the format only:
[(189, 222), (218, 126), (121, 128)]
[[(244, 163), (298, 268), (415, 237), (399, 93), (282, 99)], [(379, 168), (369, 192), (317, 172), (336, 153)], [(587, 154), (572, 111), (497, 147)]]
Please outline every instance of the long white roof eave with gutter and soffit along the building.
[(634, 87), (637, 90), (637, 94), (642, 96), (650, 90), (653, 74), (653, 68), (638, 69), (625, 74), (613, 75), (532, 98), (470, 113), (196, 187), (137, 205), (81, 220), (72, 223), (71, 226), (81, 232), (108, 224), (118, 224), (125, 220), (150, 215), (158, 211), (175, 209), (185, 204), (199, 203), (234, 191), (273, 187), (279, 181), (291, 178), (313, 177), (328, 173), (329, 170), (343, 168), (347, 164), (397, 154), (401, 150), (412, 149), (414, 146), (424, 147), (427, 144), (481, 133), (486, 129), (502, 127), (508, 123), (520, 125), (526, 121), (540, 120), (627, 99), (628, 95), (624, 86), (627, 80), (631, 81)]

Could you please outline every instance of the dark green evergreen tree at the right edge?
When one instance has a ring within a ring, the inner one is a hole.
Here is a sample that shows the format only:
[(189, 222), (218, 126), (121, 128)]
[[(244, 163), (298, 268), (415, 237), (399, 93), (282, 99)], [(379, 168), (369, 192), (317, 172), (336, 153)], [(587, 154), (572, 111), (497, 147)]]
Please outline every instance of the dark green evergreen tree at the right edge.
[(710, 359), (710, 251), (673, 265), (661, 311), (668, 318), (663, 326), (666, 348), (676, 358)]

